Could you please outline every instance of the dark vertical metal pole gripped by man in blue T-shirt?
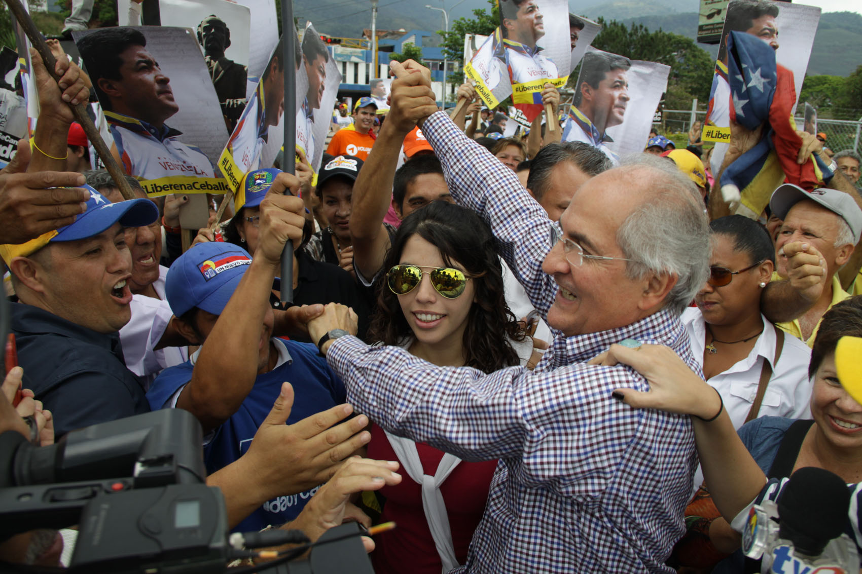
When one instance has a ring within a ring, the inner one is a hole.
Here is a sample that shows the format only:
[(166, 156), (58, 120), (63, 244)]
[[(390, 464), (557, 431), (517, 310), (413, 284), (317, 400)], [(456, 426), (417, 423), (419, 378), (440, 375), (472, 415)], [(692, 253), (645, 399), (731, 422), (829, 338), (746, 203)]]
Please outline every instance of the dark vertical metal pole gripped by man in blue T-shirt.
[[(297, 171), (297, 93), (293, 87), (297, 48), (294, 38), (297, 31), (293, 25), (293, 3), (281, 0), (281, 69), (284, 72), (284, 172)], [(272, 105), (272, 103), (270, 103)], [(281, 302), (284, 307), (293, 303), (293, 241), (287, 240), (281, 252)]]

